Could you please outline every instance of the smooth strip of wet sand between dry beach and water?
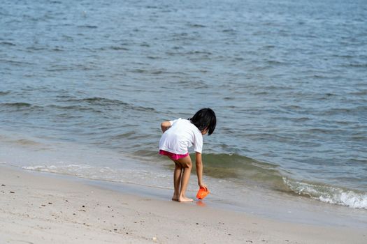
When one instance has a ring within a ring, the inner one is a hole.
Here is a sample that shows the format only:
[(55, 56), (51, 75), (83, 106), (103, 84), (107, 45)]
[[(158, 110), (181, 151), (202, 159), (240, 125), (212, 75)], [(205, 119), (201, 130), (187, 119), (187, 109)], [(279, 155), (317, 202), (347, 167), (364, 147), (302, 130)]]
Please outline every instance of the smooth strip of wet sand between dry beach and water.
[[(136, 185), (134, 183), (117, 183), (113, 181), (101, 181), (90, 178), (80, 178), (65, 174), (55, 174), (44, 171), (33, 171), (22, 169), (8, 164), (0, 164), (0, 167), (9, 167), (20, 171), (22, 174), (34, 174), (48, 176), (51, 178), (61, 178), (67, 181), (75, 181), (92, 185), (97, 188), (113, 190), (122, 194), (135, 195), (138, 197), (148, 197), (159, 201), (171, 201), (172, 190), (165, 188), (154, 188), (146, 185)], [(270, 218), (283, 222), (296, 222), (303, 224), (316, 224), (319, 226), (337, 226), (337, 227), (367, 227), (367, 213), (358, 210), (345, 211), (341, 206), (330, 206), (329, 204), (315, 203), (312, 199), (300, 197), (289, 200), (286, 197), (261, 197), (254, 195), (254, 192), (248, 192), (251, 201), (243, 201), (242, 205), (233, 205), (231, 201), (225, 201), (220, 196), (210, 195), (203, 201), (195, 201), (199, 207), (209, 207), (224, 209), (226, 211), (238, 211), (261, 218)], [(188, 195), (196, 195), (196, 192), (189, 191)], [(271, 204), (269, 204), (271, 199)], [(180, 203), (178, 203), (180, 204)]]

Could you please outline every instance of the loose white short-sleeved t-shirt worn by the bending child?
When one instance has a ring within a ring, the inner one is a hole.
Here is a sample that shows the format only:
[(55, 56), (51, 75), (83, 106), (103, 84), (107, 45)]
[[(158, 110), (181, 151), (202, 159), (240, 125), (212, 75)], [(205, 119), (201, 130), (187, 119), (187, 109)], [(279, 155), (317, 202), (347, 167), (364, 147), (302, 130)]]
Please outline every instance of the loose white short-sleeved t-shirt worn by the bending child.
[(188, 153), (189, 147), (194, 145), (194, 151), (203, 150), (203, 135), (201, 131), (187, 119), (169, 121), (171, 127), (166, 130), (159, 140), (159, 150), (175, 154)]

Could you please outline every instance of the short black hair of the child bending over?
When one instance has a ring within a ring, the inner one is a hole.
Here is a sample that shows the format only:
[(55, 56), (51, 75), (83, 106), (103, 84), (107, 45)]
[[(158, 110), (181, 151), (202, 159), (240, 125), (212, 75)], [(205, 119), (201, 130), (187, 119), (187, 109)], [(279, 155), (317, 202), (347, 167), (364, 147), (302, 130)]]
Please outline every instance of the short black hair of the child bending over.
[(208, 128), (208, 135), (212, 135), (217, 125), (215, 112), (210, 108), (200, 109), (189, 119), (201, 132)]

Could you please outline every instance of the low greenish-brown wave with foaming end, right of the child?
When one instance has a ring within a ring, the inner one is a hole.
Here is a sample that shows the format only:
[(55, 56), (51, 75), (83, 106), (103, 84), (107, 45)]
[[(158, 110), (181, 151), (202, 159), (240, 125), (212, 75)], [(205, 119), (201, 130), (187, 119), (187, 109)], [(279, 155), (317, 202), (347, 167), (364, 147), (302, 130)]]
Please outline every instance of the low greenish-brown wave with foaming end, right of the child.
[(367, 192), (343, 189), (317, 183), (304, 183), (285, 177), (278, 165), (261, 162), (243, 155), (203, 154), (206, 175), (240, 183), (254, 183), (285, 193), (296, 193), (329, 204), (367, 209)]

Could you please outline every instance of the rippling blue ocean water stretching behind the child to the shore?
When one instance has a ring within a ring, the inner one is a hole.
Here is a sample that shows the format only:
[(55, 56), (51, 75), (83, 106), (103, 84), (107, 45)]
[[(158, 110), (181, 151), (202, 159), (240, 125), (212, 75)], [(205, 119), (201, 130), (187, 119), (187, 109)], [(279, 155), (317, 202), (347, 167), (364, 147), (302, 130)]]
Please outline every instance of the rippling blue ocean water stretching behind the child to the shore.
[(365, 211), (366, 1), (1, 1), (1, 163), (171, 189), (159, 124), (202, 107), (213, 195)]

